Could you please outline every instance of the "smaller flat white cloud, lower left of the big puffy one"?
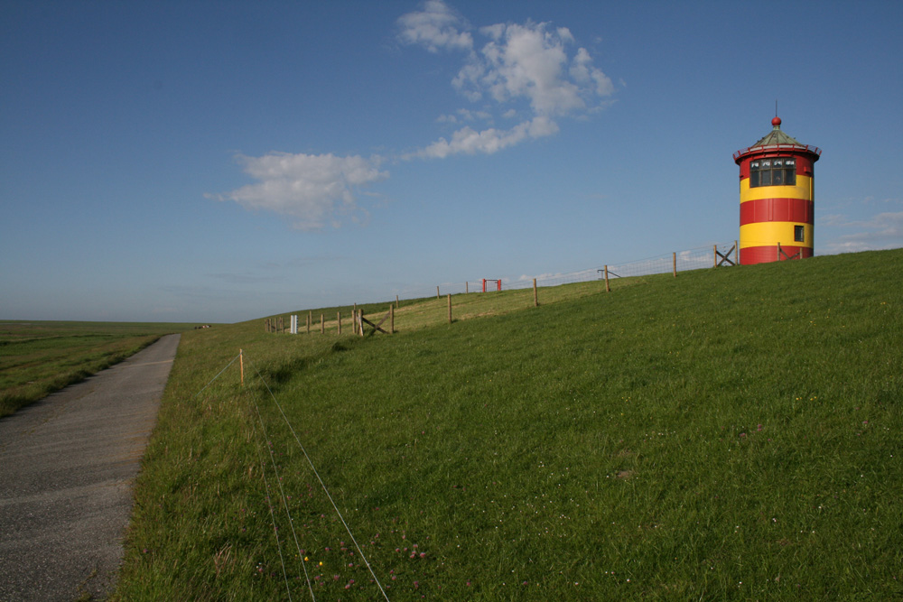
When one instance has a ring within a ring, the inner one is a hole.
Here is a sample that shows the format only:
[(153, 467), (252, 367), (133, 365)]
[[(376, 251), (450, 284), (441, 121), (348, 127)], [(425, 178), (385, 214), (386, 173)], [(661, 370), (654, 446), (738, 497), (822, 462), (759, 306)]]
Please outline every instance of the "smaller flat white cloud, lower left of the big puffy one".
[(257, 182), (212, 198), (273, 211), (291, 218), (294, 227), (302, 230), (320, 229), (327, 223), (339, 227), (340, 218), (361, 211), (355, 193), (388, 177), (387, 171), (379, 171), (377, 156), (267, 153), (238, 155), (237, 161)]

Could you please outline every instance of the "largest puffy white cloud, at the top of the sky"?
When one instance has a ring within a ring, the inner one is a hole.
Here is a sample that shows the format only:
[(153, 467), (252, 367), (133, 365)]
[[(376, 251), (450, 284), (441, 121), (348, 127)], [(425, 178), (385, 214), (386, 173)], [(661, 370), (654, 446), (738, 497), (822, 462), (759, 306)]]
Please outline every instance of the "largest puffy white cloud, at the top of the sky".
[[(558, 132), (553, 118), (584, 116), (602, 107), (614, 86), (592, 64), (589, 51), (571, 51), (574, 37), (566, 27), (548, 23), (497, 23), (479, 28), (487, 42), (475, 50), (467, 23), (442, 0), (432, 0), (422, 11), (403, 15), (399, 39), (419, 44), (428, 51), (463, 52), (464, 64), (452, 79), (452, 87), (470, 101), (489, 99), (498, 115), (511, 118), (518, 108), (532, 117), (509, 130), (477, 131), (470, 126), (440, 138), (413, 157), (447, 157), (455, 153), (496, 153), (526, 140)], [(511, 107), (515, 105), (515, 107)], [(472, 116), (489, 120), (487, 111)], [(472, 117), (466, 109), (439, 118), (441, 123), (459, 124)]]

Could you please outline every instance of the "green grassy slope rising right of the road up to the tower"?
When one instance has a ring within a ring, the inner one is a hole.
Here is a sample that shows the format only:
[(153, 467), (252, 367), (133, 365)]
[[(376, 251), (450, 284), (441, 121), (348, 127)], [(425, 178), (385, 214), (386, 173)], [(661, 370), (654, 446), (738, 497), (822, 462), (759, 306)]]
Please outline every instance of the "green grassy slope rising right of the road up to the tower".
[(903, 597), (901, 281), (895, 250), (187, 332), (115, 598)]

